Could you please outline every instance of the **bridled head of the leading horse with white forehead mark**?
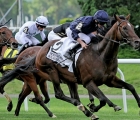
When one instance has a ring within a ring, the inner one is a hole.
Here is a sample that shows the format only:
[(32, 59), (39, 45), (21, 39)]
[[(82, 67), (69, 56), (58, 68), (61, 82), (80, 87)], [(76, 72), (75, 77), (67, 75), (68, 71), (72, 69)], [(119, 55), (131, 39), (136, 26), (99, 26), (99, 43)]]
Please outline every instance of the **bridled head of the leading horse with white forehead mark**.
[(125, 17), (125, 19), (121, 19), (116, 15), (114, 15), (114, 17), (118, 26), (117, 38), (132, 45), (134, 49), (139, 49), (140, 38), (136, 35), (134, 26), (128, 21), (130, 19), (130, 15)]

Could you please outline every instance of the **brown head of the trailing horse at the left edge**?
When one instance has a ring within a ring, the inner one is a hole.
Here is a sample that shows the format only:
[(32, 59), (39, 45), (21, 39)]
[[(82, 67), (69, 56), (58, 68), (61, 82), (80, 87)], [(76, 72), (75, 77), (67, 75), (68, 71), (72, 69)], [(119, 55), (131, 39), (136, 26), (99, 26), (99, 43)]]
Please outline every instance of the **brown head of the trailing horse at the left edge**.
[(18, 42), (12, 35), (12, 31), (9, 30), (6, 26), (0, 27), (0, 46), (11, 47), (13, 49), (18, 47)]

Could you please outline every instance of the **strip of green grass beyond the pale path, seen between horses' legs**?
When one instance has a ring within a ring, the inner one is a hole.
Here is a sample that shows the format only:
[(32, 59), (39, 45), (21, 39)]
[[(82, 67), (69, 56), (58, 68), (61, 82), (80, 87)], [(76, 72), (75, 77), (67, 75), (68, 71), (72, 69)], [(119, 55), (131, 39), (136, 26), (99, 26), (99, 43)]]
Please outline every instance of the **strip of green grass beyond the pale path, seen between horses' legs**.
[[(124, 73), (125, 81), (132, 84), (135, 87), (135, 89), (138, 91), (138, 94), (140, 94), (139, 92), (140, 91), (140, 84), (139, 84), (140, 83), (140, 74), (139, 74), (140, 65), (139, 64), (119, 64), (119, 68)], [(120, 75), (118, 73), (117, 73), (117, 76), (120, 78)], [(21, 81), (14, 80), (6, 85), (5, 90), (9, 94), (20, 93), (22, 84), (23, 83)], [(66, 85), (61, 85), (61, 86), (64, 90), (64, 93), (69, 94), (68, 87)], [(51, 82), (48, 83), (48, 88), (49, 88), (49, 93), (54, 94), (54, 90), (53, 90), (53, 86)], [(121, 89), (109, 88), (105, 85), (102, 85), (100, 88), (105, 94), (122, 94)], [(82, 85), (79, 86), (78, 91), (79, 91), (79, 94), (87, 94), (87, 90), (83, 88)], [(127, 94), (131, 94), (131, 93), (127, 90)]]

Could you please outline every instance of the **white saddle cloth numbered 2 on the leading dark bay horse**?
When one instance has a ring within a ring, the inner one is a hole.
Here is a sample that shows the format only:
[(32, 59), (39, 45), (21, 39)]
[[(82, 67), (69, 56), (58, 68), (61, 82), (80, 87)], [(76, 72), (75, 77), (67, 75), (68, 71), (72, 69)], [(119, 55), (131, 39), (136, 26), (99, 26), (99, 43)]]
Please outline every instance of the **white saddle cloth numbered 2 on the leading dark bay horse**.
[[(68, 67), (68, 71), (73, 72), (73, 61), (64, 57), (64, 54), (68, 49), (76, 44), (72, 42), (68, 37), (62, 38), (60, 41), (56, 42), (53, 46), (51, 46), (48, 54), (46, 55), (47, 58), (57, 62), (62, 67)], [(75, 55), (75, 65), (78, 59), (80, 52)]]

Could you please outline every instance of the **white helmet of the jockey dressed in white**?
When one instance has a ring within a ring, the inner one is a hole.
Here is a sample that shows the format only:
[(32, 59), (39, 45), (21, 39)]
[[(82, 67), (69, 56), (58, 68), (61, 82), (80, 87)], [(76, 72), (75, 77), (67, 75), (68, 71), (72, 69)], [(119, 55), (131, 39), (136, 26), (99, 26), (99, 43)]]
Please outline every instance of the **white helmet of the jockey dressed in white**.
[(35, 22), (36, 24), (44, 27), (46, 27), (49, 24), (48, 19), (44, 16), (37, 17)]

